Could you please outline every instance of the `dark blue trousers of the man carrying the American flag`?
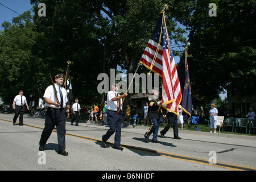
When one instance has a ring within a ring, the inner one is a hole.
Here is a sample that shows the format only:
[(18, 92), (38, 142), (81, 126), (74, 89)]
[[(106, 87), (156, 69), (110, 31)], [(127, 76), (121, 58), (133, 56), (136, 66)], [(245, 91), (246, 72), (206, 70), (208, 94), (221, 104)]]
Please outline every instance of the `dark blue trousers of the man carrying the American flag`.
[(102, 140), (106, 142), (114, 133), (114, 147), (120, 147), (121, 129), (122, 129), (122, 114), (117, 115), (117, 111), (108, 110), (109, 130), (102, 136)]

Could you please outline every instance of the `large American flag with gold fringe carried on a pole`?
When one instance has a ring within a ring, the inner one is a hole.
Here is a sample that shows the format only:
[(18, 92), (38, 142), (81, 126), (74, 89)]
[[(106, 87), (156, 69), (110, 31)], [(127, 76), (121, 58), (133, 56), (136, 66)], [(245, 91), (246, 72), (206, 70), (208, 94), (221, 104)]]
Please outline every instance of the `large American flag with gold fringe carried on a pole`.
[(161, 14), (139, 62), (163, 78), (162, 107), (179, 115), (182, 94), (170, 45), (166, 19)]

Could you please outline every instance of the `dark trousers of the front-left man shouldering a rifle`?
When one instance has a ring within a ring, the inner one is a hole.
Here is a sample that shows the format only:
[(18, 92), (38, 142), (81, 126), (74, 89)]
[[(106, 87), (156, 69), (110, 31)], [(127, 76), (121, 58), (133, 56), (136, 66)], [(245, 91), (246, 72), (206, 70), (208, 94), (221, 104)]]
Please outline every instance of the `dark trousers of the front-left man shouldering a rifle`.
[(59, 143), (59, 149), (65, 150), (65, 135), (66, 135), (66, 110), (65, 109), (52, 109), (48, 107), (46, 111), (46, 123), (44, 130), (41, 135), (39, 144), (44, 146), (48, 138), (50, 137), (52, 130), (56, 126), (57, 129), (57, 140)]

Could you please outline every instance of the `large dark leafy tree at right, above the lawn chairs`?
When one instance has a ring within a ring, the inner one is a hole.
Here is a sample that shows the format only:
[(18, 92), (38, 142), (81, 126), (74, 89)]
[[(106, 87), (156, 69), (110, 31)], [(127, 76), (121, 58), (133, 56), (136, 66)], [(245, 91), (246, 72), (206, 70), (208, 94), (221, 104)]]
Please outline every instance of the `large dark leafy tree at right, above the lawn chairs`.
[[(216, 3), (217, 16), (208, 15)], [(239, 79), (255, 86), (255, 1), (195, 1), (184, 21), (189, 30), (189, 74), (193, 104), (217, 98)]]

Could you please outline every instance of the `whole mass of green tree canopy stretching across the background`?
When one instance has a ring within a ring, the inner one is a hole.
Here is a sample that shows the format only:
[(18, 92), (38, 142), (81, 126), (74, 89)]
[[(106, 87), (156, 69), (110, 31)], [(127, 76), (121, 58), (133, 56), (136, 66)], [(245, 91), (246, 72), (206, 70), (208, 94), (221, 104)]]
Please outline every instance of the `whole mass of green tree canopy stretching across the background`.
[[(46, 16), (38, 16), (39, 3)], [(217, 16), (209, 16), (207, 0), (31, 0), (34, 16), (26, 11), (2, 24), (0, 96), (11, 102), (22, 89), (37, 103), (51, 84), (48, 74), (65, 73), (70, 60), (74, 97), (100, 104), (97, 76), (118, 66), (134, 73), (165, 3), (171, 43), (187, 41), (178, 22), (189, 32), (193, 104), (209, 103), (238, 78), (254, 84), (254, 0), (216, 0)]]

